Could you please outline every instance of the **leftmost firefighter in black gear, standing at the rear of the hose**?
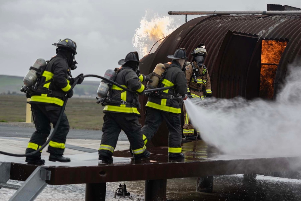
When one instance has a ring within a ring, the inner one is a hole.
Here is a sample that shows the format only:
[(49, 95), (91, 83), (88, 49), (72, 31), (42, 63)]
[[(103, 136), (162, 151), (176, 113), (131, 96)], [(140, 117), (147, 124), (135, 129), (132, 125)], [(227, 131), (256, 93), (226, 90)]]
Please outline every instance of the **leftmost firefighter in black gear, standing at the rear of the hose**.
[[(37, 90), (31, 95), (29, 103), (33, 112), (33, 120), (36, 131), (31, 136), (26, 153), (39, 149), (48, 137), (51, 129), (58, 123), (56, 133), (49, 142), (47, 152), (50, 153), (50, 161), (70, 162), (69, 158), (63, 156), (66, 137), (69, 132), (69, 122), (65, 113), (61, 121), (57, 122), (66, 96), (71, 98), (73, 90), (71, 85), (75, 79), (78, 84), (84, 80), (83, 74), (72, 78), (70, 70), (76, 68), (76, 43), (70, 39), (59, 40), (52, 44), (56, 46), (56, 55), (46, 65), (45, 71), (38, 79)], [(41, 151), (42, 152), (42, 151)], [(42, 165), (41, 152), (26, 157), (25, 161), (30, 164)]]

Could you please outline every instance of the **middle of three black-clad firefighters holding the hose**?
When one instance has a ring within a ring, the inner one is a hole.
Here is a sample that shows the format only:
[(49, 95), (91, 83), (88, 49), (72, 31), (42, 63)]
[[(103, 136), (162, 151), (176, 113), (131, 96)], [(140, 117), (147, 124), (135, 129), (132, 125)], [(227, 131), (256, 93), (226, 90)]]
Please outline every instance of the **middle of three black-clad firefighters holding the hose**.
[(131, 93), (112, 86), (110, 97), (113, 101), (104, 103), (103, 112), (104, 124), (102, 127), (103, 135), (98, 149), (99, 160), (104, 163), (113, 162), (113, 152), (116, 147), (118, 136), (121, 130), (126, 133), (131, 144), (134, 159), (141, 159), (150, 156), (142, 140), (141, 124), (138, 118), (140, 108), (138, 94), (144, 94), (143, 81), (150, 81), (150, 76), (139, 74), (139, 57), (137, 52), (130, 52), (125, 59), (121, 59), (118, 64), (121, 68), (116, 68), (115, 82), (125, 86), (136, 93)]

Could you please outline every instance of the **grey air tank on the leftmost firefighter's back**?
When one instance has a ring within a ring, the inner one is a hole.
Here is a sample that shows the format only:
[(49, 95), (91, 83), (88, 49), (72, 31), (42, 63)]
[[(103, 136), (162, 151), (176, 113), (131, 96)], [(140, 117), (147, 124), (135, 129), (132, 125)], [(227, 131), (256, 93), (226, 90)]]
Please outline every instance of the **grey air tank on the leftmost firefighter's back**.
[(37, 79), (38, 79), (38, 72), (40, 71), (39, 67), (40, 66), (45, 66), (46, 61), (44, 59), (37, 59), (36, 62), (33, 63), (33, 65), (29, 68), (28, 73), (23, 79), (23, 83), (25, 86), (30, 87), (33, 86)]

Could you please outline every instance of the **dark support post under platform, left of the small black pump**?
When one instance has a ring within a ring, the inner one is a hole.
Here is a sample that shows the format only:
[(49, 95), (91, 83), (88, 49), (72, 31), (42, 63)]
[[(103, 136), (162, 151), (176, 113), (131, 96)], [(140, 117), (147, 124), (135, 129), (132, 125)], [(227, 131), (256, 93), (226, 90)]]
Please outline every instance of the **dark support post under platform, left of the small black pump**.
[(106, 200), (106, 183), (86, 184), (85, 201)]

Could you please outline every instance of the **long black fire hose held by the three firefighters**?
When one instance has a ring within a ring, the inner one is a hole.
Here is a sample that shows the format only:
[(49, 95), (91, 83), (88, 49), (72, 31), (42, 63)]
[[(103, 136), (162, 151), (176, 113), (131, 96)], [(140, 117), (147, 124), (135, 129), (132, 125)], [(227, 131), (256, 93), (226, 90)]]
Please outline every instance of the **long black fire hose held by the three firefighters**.
[[(107, 78), (102, 77), (102, 76), (99, 76), (99, 75), (87, 74), (87, 75), (84, 75), (83, 77), (97, 77), (97, 78), (103, 79), (103, 80), (105, 80), (105, 81), (107, 81), (107, 82), (110, 82), (110, 83), (112, 83), (112, 84), (114, 84), (114, 85), (116, 85), (116, 86), (122, 88), (123, 90), (129, 91), (129, 92), (132, 92), (132, 93), (136, 93), (136, 91), (134, 91), (134, 90), (130, 90), (130, 89), (128, 89), (128, 88), (126, 88), (126, 87), (124, 87), (124, 86), (121, 86), (120, 84), (118, 84), (118, 83), (116, 83), (116, 82), (114, 82), (114, 81), (112, 81), (112, 80), (110, 80), (110, 79), (107, 79)], [(78, 82), (78, 79), (74, 80), (74, 83), (72, 84), (71, 89), (73, 89), (73, 88), (75, 87), (75, 85), (77, 84), (77, 82)], [(169, 86), (169, 87), (161, 87), (161, 88), (156, 88), (156, 89), (145, 90), (145, 92), (160, 91), (160, 90), (166, 90), (166, 89), (171, 89), (171, 88), (173, 88), (173, 86)], [(63, 104), (63, 106), (62, 106), (62, 109), (61, 109), (61, 111), (60, 111), (60, 115), (59, 115), (59, 117), (58, 117), (58, 119), (57, 119), (57, 122), (60, 122), (60, 121), (61, 121), (63, 112), (64, 112), (65, 107), (66, 107), (66, 104), (67, 104), (67, 100), (68, 100), (68, 98), (66, 97), (66, 99), (65, 99), (65, 101), (64, 101), (64, 104)], [(50, 135), (49, 138), (48, 138), (48, 140), (47, 140), (47, 141), (46, 141), (39, 149), (37, 149), (37, 150), (35, 150), (35, 151), (30, 152), (30, 153), (27, 153), (27, 154), (14, 154), (14, 153), (9, 153), (9, 152), (0, 151), (0, 154), (3, 154), (3, 155), (9, 155), (9, 156), (15, 156), (15, 157), (27, 157), (27, 156), (34, 155), (34, 154), (36, 154), (36, 153), (42, 151), (42, 149), (44, 149), (44, 148), (48, 145), (48, 143), (52, 140), (52, 138), (53, 138), (55, 132), (57, 131), (58, 125), (59, 125), (59, 123), (55, 125), (55, 127), (54, 127), (54, 129), (53, 129), (51, 135)]]

